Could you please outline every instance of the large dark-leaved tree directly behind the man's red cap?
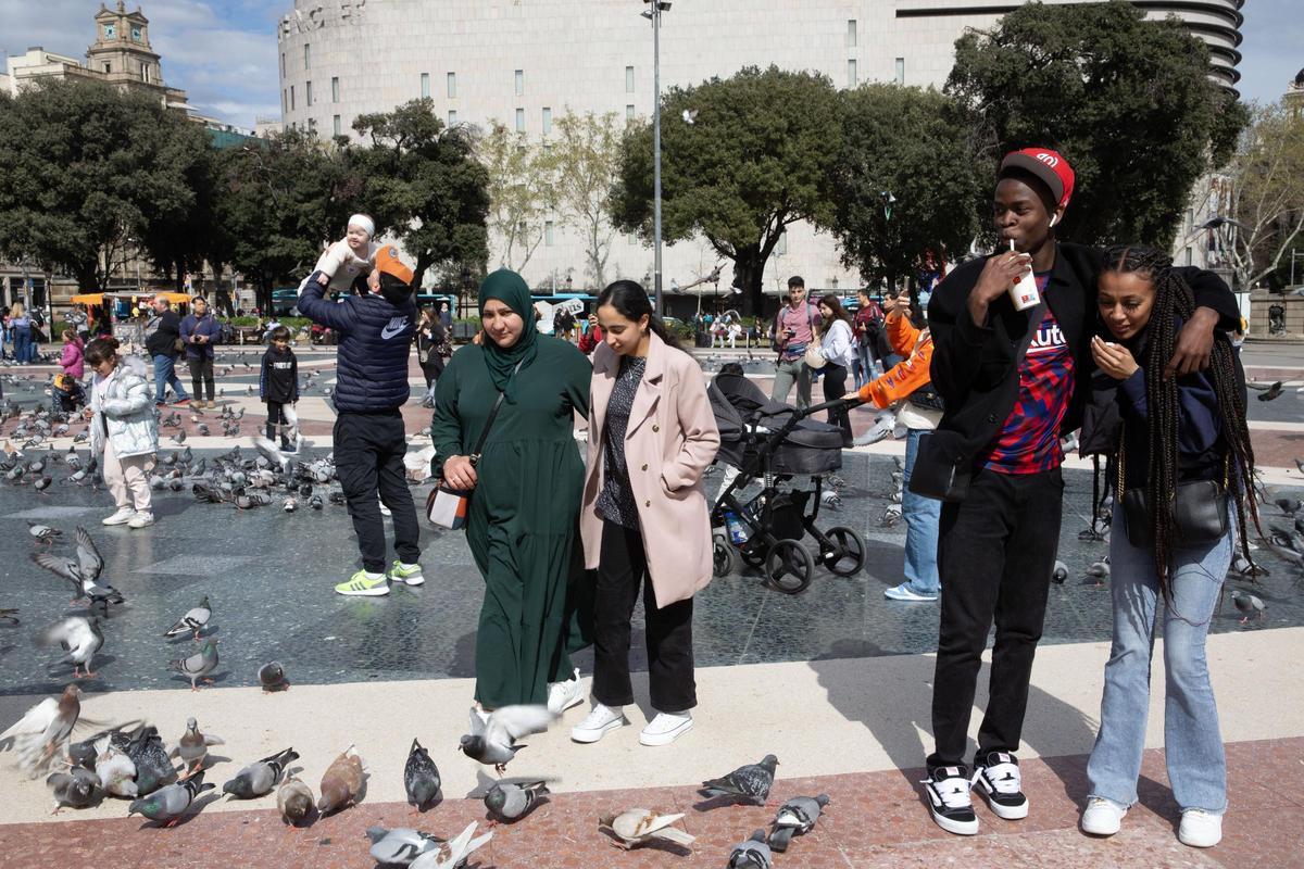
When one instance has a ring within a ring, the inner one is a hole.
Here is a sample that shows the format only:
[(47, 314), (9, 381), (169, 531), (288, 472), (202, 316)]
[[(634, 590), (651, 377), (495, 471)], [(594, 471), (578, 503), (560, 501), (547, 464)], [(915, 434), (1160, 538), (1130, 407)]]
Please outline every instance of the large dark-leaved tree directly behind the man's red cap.
[(1167, 249), (1193, 184), (1227, 162), (1245, 124), (1208, 73), (1209, 50), (1175, 20), (1146, 21), (1124, 0), (1030, 3), (956, 40), (947, 93), (974, 112), (992, 169), (1034, 145), (1068, 158), (1077, 180), (1061, 237)]

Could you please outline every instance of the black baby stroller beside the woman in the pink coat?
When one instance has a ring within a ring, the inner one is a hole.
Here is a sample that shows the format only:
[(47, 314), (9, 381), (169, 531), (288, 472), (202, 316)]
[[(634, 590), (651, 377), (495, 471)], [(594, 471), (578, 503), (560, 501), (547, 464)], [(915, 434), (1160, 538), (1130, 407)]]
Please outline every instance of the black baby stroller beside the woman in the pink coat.
[[(711, 511), (715, 575), (733, 573), (746, 562), (786, 594), (811, 584), (815, 565), (836, 576), (854, 576), (865, 567), (865, 541), (854, 529), (822, 532), (819, 520), (824, 474), (842, 466), (842, 431), (811, 420), (819, 410), (853, 404), (828, 401), (798, 410), (771, 401), (737, 363), (725, 365), (707, 391), (720, 427), (722, 461), (738, 470)], [(795, 489), (794, 477), (810, 477), (812, 489)], [(728, 477), (726, 477), (728, 479)], [(755, 481), (762, 489), (748, 500), (742, 490)], [(819, 554), (802, 542), (815, 538)]]

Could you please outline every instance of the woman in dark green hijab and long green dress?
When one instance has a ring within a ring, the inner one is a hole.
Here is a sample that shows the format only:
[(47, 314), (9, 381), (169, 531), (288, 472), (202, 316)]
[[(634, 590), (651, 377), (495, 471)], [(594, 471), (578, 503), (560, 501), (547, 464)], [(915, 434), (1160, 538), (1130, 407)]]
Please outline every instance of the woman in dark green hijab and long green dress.
[(574, 420), (588, 416), (592, 366), (572, 344), (539, 334), (516, 272), (485, 278), (480, 321), (481, 343), (454, 353), (439, 378), (430, 426), (436, 476), (473, 490), (467, 542), (485, 578), (476, 700), (482, 710), (548, 702), (561, 713), (583, 700), (570, 653), (588, 645)]

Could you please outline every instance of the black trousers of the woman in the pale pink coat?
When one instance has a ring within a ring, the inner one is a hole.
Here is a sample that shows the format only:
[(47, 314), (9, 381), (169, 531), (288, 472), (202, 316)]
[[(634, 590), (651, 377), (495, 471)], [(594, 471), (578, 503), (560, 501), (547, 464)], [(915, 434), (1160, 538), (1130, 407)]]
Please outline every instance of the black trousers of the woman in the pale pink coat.
[(698, 705), (692, 676), (692, 598), (657, 608), (636, 528), (602, 522), (602, 551), (593, 594), (593, 700), (604, 706), (634, 702), (630, 684), (630, 619), (643, 589), (648, 684), (652, 707), (682, 713)]

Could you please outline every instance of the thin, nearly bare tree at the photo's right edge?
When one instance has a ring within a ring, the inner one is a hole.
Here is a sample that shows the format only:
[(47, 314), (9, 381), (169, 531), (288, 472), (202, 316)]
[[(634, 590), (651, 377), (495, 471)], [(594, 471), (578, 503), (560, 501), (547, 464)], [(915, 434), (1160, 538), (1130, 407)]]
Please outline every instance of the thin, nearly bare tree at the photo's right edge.
[[(1222, 215), (1235, 223), (1215, 232), (1224, 245), (1237, 283), (1249, 289), (1274, 275), (1295, 251), (1304, 231), (1304, 116), (1283, 103), (1256, 107), (1226, 172)], [(1288, 267), (1288, 263), (1286, 263)], [(1288, 268), (1287, 268), (1288, 272)]]

